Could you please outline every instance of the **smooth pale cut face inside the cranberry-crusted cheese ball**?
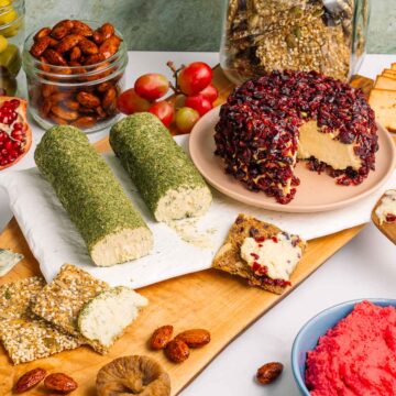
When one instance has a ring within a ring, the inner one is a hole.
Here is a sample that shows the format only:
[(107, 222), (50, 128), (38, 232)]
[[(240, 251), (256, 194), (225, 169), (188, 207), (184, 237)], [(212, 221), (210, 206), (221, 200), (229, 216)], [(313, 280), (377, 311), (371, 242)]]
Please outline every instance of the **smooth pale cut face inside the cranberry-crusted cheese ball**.
[(345, 169), (351, 166), (359, 169), (361, 158), (354, 153), (353, 144), (344, 144), (333, 140), (332, 133), (322, 133), (316, 121), (311, 120), (299, 128), (298, 158), (308, 160), (314, 156), (334, 169)]

